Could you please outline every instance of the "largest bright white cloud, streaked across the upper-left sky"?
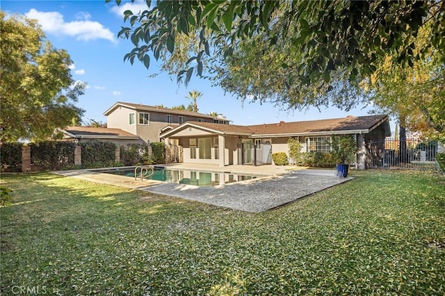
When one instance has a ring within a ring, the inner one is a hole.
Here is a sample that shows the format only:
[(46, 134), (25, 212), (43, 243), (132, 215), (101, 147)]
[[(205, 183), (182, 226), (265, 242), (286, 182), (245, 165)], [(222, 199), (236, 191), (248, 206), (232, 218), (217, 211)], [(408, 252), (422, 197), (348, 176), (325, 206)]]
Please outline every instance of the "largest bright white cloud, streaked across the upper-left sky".
[[(105, 28), (99, 22), (88, 20), (91, 15), (88, 13), (78, 13), (78, 20), (65, 22), (63, 15), (56, 11), (44, 13), (32, 8), (25, 16), (30, 19), (37, 19), (43, 31), (54, 34), (64, 34), (76, 37), (77, 40), (105, 39), (116, 42), (113, 32)], [(82, 18), (82, 19), (79, 19)]]

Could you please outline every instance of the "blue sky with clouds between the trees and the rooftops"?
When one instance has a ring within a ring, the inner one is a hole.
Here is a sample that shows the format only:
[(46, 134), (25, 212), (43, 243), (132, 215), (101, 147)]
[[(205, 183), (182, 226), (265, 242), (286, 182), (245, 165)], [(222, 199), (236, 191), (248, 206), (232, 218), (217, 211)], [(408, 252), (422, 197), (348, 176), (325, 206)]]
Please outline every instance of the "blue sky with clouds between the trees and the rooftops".
[[(72, 60), (73, 78), (88, 84), (86, 94), (79, 98), (77, 106), (86, 110), (83, 120), (94, 119), (106, 122), (103, 113), (116, 101), (166, 107), (187, 105), (189, 91), (198, 90), (203, 97), (197, 101), (200, 113), (216, 111), (234, 124), (262, 124), (284, 120), (318, 120), (346, 117), (346, 115), (368, 115), (369, 108), (358, 106), (344, 112), (331, 107), (306, 112), (282, 111), (272, 104), (244, 104), (231, 94), (224, 94), (218, 87), (198, 77), (193, 77), (188, 88), (178, 85), (175, 77), (160, 74), (159, 66), (152, 65), (148, 71), (142, 63), (124, 63), (124, 55), (131, 51), (130, 40), (118, 39), (118, 31), (124, 26), (124, 10), (134, 12), (146, 9), (145, 3), (95, 1), (1, 1), (1, 10), (8, 14), (26, 15), (38, 19), (47, 39), (58, 49), (67, 50)], [(126, 25), (128, 26), (128, 24)], [(391, 124), (392, 127), (393, 124)], [(393, 128), (394, 129), (394, 128)]]

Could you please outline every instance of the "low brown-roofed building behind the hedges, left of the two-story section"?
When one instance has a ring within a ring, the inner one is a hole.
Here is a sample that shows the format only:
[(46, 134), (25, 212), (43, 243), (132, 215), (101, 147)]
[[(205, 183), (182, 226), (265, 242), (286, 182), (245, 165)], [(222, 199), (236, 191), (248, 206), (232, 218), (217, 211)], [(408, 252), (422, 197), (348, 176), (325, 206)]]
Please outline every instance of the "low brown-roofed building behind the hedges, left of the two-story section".
[(101, 140), (114, 142), (116, 145), (142, 144), (144, 141), (138, 136), (122, 131), (122, 129), (108, 129), (106, 127), (68, 126), (59, 129), (63, 133), (63, 140), (82, 142), (86, 140)]

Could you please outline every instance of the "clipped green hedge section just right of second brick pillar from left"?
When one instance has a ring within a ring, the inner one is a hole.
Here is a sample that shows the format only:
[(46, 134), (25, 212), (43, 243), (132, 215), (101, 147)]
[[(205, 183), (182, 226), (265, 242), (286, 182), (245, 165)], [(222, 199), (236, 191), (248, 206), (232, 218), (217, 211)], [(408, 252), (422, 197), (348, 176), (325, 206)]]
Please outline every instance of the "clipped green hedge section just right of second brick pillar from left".
[(115, 143), (90, 140), (81, 142), (80, 145), (82, 147), (83, 168), (110, 167), (114, 164), (116, 151)]

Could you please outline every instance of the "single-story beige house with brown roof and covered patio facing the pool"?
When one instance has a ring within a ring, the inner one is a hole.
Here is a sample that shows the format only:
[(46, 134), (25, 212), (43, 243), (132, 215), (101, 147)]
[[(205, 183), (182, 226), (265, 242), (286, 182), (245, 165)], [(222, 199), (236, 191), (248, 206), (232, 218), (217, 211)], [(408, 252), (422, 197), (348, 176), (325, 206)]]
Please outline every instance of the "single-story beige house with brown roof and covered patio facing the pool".
[(279, 122), (240, 126), (209, 122), (185, 122), (161, 133), (168, 143), (177, 140), (184, 163), (259, 165), (272, 163), (271, 154), (289, 154), (289, 138), (298, 138), (302, 152), (329, 152), (332, 135), (355, 135), (356, 167), (366, 167), (366, 145), (391, 135), (387, 115), (348, 116), (329, 120)]

